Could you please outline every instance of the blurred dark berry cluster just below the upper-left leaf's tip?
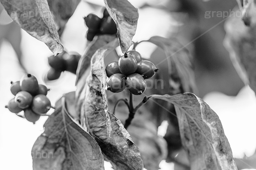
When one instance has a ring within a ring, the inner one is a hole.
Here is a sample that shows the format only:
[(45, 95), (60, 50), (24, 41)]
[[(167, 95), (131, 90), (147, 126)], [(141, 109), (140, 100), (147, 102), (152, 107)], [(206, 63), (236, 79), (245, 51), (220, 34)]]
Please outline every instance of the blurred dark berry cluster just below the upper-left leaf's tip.
[(57, 56), (48, 57), (48, 63), (50, 70), (46, 73), (47, 80), (56, 80), (60, 77), (62, 71), (69, 71), (76, 74), (77, 65), (81, 55), (73, 54), (69, 55), (67, 52), (63, 52)]

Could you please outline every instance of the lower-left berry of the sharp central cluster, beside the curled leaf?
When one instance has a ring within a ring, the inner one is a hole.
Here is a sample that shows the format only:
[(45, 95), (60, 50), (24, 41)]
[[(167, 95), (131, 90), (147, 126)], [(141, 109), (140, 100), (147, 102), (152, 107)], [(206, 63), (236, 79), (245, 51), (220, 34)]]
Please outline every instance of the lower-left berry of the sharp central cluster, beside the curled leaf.
[(125, 75), (117, 73), (108, 78), (107, 88), (110, 92), (118, 93), (125, 89)]

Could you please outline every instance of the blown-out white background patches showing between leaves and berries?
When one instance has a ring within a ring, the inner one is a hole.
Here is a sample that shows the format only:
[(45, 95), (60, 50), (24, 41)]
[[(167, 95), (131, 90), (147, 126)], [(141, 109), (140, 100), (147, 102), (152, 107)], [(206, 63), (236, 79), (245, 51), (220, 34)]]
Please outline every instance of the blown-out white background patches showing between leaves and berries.
[[(99, 2), (102, 5), (101, 1), (93, 0), (92, 2)], [(130, 2), (139, 7), (144, 1), (133, 0)], [(157, 3), (158, 1), (149, 2)], [(65, 50), (83, 53), (86, 44), (84, 39), (86, 27), (83, 17), (91, 12), (101, 16), (101, 10), (100, 6), (95, 8), (85, 2), (79, 4), (76, 12), (68, 21), (67, 29), (61, 38)], [(146, 40), (153, 35), (167, 36), (175, 32), (181, 24), (172, 14), (157, 8), (146, 7), (143, 10), (139, 9), (139, 13), (140, 18), (134, 41)], [(40, 84), (44, 84), (42, 77), (49, 69), (47, 57), (52, 53), (44, 43), (31, 37), (25, 31), (21, 30), (21, 34), (23, 63), (28, 72), (35, 75)], [(142, 56), (149, 56), (153, 52), (154, 46), (148, 45), (147, 48), (138, 48), (137, 50)], [(3, 170), (32, 170), (31, 149), (37, 137), (44, 131), (43, 124), (46, 117), (41, 117), (33, 125), (4, 108), (13, 98), (9, 90), (10, 81), (18, 81), (24, 73), (11, 45), (4, 41), (0, 44), (0, 169)], [(75, 79), (75, 75), (65, 72), (62, 73), (59, 80), (46, 84), (52, 89), (47, 95), (52, 103), (63, 93), (75, 90)], [(204, 96), (204, 101), (219, 115), (234, 157), (242, 158), (244, 153), (247, 156), (252, 155), (256, 148), (256, 98), (254, 92), (247, 86), (242, 88), (237, 96), (210, 92)], [(172, 163), (162, 162), (160, 166), (163, 170), (173, 169)], [(107, 163), (106, 169), (109, 167), (110, 165)]]

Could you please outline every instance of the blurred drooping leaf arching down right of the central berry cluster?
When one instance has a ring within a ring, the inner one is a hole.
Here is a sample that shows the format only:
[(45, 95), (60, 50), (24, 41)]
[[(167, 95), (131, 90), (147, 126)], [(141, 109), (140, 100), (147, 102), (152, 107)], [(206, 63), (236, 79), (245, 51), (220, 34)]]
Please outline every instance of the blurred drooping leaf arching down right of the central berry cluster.
[[(178, 40), (164, 37), (154, 36), (148, 42), (162, 48), (166, 55), (167, 61), (163, 60), (160, 62), (168, 63), (169, 86), (165, 88), (167, 89), (166, 93), (170, 95), (183, 92), (196, 93), (195, 75), (188, 50), (178, 43)], [(160, 63), (156, 63), (156, 67)]]

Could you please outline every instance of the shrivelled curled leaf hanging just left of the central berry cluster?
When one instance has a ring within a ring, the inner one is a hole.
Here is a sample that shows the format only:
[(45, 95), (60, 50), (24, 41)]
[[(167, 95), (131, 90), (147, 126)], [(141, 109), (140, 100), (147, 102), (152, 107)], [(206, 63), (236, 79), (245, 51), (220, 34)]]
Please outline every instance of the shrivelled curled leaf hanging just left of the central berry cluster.
[[(105, 92), (107, 76), (103, 61), (106, 52), (106, 48), (100, 48), (92, 56), (91, 72), (85, 84), (81, 122), (98, 142), (105, 160), (111, 162), (114, 169), (142, 170), (143, 162), (138, 147), (132, 142), (121, 121), (108, 110)], [(108, 125), (112, 131), (109, 131)]]

